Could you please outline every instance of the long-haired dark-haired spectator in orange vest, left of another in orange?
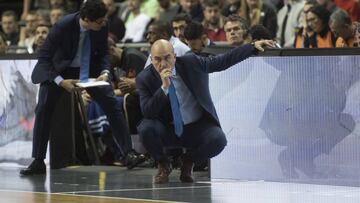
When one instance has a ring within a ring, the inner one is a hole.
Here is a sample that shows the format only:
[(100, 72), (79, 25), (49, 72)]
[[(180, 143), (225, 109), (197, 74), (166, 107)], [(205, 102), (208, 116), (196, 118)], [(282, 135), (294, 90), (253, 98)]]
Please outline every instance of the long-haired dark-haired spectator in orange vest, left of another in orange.
[(310, 8), (306, 14), (306, 22), (314, 31), (305, 39), (306, 48), (331, 48), (335, 46), (335, 36), (329, 28), (330, 12), (323, 6)]

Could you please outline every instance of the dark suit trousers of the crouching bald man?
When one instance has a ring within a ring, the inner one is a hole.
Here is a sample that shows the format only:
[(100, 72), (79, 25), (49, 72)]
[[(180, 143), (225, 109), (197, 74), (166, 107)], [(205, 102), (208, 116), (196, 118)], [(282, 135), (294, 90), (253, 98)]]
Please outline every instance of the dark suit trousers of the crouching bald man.
[(138, 126), (138, 132), (144, 147), (157, 161), (167, 159), (163, 150), (166, 146), (186, 148), (186, 156), (199, 163), (218, 155), (227, 144), (222, 129), (205, 116), (185, 125), (180, 138), (175, 134), (173, 125), (157, 119), (143, 119)]

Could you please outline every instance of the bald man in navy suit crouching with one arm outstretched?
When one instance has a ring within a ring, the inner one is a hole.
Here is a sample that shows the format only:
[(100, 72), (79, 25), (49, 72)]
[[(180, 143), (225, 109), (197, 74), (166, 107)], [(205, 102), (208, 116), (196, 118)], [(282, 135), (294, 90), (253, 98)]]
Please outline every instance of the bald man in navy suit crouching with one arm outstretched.
[(208, 73), (232, 65), (273, 47), (271, 40), (256, 41), (215, 57), (187, 54), (176, 58), (166, 40), (151, 47), (152, 65), (136, 79), (144, 120), (138, 132), (148, 152), (158, 161), (155, 183), (167, 183), (171, 172), (163, 147), (178, 145), (188, 151), (182, 155), (180, 180), (193, 182), (194, 162), (218, 155), (226, 145), (224, 132), (209, 91)]

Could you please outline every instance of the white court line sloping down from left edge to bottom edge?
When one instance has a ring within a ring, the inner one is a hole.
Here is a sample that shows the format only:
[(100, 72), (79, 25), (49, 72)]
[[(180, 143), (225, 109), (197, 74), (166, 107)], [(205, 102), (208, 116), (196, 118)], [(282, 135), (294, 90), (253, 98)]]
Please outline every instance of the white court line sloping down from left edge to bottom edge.
[[(166, 200), (154, 200), (154, 199), (139, 199), (139, 198), (126, 198), (126, 197), (110, 197), (110, 196), (95, 196), (95, 195), (79, 195), (79, 194), (65, 194), (65, 193), (48, 193), (48, 192), (33, 192), (33, 191), (22, 191), (22, 190), (0, 190), (0, 192), (15, 192), (15, 193), (30, 193), (30, 194), (43, 194), (43, 195), (62, 195), (62, 196), (77, 196), (77, 197), (91, 197), (99, 199), (116, 199), (116, 200), (129, 200), (129, 201), (145, 201), (145, 202), (163, 202), (172, 203), (175, 201)], [(1, 197), (0, 197), (1, 199)], [(177, 202), (176, 203), (183, 203)]]

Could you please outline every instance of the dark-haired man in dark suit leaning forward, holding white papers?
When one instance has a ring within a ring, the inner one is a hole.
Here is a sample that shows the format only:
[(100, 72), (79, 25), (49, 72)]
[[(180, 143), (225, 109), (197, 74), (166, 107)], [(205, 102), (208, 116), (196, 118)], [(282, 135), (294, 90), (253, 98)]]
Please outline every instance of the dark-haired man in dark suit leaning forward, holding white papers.
[[(40, 83), (33, 134), (32, 156), (35, 160), (20, 174), (46, 173), (43, 160), (50, 121), (61, 95), (74, 90), (79, 76), (82, 81), (87, 81), (88, 77), (109, 80), (106, 12), (101, 0), (85, 1), (80, 12), (67, 15), (54, 25), (42, 45), (32, 73), (33, 83)], [(87, 91), (109, 119), (114, 140), (121, 149), (117, 158), (136, 164), (137, 157), (131, 152), (129, 130), (112, 87), (92, 87)]]

